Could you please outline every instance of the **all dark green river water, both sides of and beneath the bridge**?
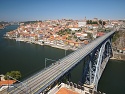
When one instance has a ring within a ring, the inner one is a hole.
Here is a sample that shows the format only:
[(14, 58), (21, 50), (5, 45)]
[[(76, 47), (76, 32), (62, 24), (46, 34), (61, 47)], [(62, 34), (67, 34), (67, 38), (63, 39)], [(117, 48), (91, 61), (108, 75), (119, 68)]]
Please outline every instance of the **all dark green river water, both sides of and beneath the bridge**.
[[(18, 26), (7, 26), (0, 30), (0, 74), (19, 70), (22, 80), (44, 69), (45, 58), (59, 60), (65, 51), (49, 46), (17, 42), (3, 38), (3, 35)], [(72, 51), (66, 51), (70, 54)], [(47, 66), (51, 64), (47, 61)], [(78, 82), (82, 73), (82, 63), (72, 71), (72, 80)], [(125, 61), (110, 60), (99, 81), (98, 90), (106, 94), (125, 94)]]

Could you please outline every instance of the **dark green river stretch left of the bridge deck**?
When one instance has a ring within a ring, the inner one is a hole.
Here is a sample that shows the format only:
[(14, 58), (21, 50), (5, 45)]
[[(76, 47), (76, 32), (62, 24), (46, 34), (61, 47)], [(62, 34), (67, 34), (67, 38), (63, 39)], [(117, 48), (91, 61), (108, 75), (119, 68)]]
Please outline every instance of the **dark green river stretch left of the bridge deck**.
[[(45, 58), (59, 60), (65, 56), (65, 51), (61, 49), (3, 38), (3, 34), (16, 28), (15, 25), (0, 30), (0, 74), (19, 70), (22, 78), (26, 78), (45, 67)], [(66, 54), (71, 52), (66, 51)], [(47, 65), (51, 62), (47, 61)]]

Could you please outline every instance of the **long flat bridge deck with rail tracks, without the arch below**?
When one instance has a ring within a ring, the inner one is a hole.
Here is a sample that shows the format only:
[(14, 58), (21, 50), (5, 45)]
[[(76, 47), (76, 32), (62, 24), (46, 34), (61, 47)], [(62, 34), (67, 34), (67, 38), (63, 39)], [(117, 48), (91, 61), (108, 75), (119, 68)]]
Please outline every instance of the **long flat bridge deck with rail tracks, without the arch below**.
[(106, 38), (111, 36), (114, 31), (107, 33), (106, 35), (97, 38), (93, 42), (78, 49), (77, 51), (71, 53), (70, 55), (60, 59), (55, 64), (46, 68), (34, 76), (28, 78), (20, 83), (17, 88), (11, 89), (9, 94), (38, 94), (54, 81), (59, 79), (72, 67), (74, 67), (80, 60), (82, 60), (87, 54), (89, 54), (95, 47), (102, 43)]

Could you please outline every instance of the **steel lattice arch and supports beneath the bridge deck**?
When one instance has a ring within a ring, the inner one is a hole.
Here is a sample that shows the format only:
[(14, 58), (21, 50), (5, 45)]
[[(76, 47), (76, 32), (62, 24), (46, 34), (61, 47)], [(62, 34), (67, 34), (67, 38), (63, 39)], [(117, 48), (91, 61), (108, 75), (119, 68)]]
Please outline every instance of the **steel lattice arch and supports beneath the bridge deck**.
[(112, 56), (111, 40), (108, 39), (103, 44), (97, 46), (85, 59), (82, 83), (94, 86), (97, 90), (102, 72)]

